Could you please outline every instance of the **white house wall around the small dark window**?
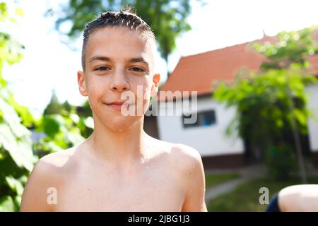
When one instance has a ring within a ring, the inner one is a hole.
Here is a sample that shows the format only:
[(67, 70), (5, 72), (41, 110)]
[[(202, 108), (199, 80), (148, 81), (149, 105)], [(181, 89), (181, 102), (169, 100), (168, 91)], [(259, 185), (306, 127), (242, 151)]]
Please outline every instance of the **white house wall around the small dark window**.
[[(213, 109), (216, 124), (194, 128), (183, 128), (181, 116), (162, 116), (159, 114), (159, 138), (173, 143), (184, 143), (199, 151), (202, 156), (228, 155), (244, 153), (244, 145), (237, 136), (225, 135), (226, 126), (235, 115), (235, 109), (225, 109), (211, 97), (198, 97), (198, 112)], [(160, 105), (160, 113), (163, 108)]]

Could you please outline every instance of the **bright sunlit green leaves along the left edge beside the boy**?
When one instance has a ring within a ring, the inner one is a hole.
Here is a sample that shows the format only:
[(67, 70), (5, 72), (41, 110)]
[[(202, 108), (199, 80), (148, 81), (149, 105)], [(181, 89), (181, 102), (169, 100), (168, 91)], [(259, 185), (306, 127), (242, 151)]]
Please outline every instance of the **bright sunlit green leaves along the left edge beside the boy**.
[[(16, 15), (23, 15), (21, 8), (15, 7), (12, 16), (8, 4), (0, 1), (0, 23), (10, 25)], [(35, 119), (28, 107), (16, 102), (2, 69), (20, 61), (23, 48), (11, 35), (0, 32), (0, 211), (19, 209), (25, 183), (39, 157), (81, 143), (83, 131), (93, 128), (91, 117), (78, 117), (67, 103), (61, 112)]]

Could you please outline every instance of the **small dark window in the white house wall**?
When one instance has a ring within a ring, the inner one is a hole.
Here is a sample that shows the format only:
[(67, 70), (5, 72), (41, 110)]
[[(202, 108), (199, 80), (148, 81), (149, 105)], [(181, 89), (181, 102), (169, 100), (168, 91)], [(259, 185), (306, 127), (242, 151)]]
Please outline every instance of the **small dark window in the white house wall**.
[(184, 119), (191, 119), (191, 118), (192, 118), (192, 114), (190, 114), (189, 116), (182, 115), (183, 128), (187, 129), (187, 128), (193, 128), (198, 126), (211, 126), (216, 124), (216, 112), (214, 110), (198, 112), (195, 123), (193, 124), (184, 123)]

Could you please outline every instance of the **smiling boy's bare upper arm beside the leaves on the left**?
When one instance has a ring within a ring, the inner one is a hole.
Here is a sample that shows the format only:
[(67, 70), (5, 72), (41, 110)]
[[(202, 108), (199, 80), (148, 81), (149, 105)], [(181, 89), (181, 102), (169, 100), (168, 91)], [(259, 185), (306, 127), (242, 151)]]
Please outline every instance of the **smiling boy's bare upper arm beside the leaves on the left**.
[[(54, 205), (48, 203), (52, 191), (57, 191), (57, 167), (47, 161), (47, 157), (37, 162), (23, 191), (20, 211), (53, 211)], [(53, 188), (53, 190), (52, 190)]]

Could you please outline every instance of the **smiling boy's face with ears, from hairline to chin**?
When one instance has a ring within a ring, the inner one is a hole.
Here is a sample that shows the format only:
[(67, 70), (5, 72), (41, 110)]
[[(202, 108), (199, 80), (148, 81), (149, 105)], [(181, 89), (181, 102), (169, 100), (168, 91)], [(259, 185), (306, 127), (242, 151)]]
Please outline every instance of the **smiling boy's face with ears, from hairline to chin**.
[[(143, 119), (151, 95), (158, 92), (160, 75), (153, 74), (153, 63), (151, 42), (140, 32), (114, 26), (98, 28), (90, 34), (86, 67), (85, 71), (78, 71), (78, 86), (81, 95), (88, 96), (95, 124), (124, 131)], [(129, 93), (129, 97), (132, 94), (135, 100), (126, 101), (123, 93)], [(142, 104), (138, 105), (138, 101)], [(135, 114), (125, 116), (118, 102), (131, 104), (126, 109), (134, 107)]]

